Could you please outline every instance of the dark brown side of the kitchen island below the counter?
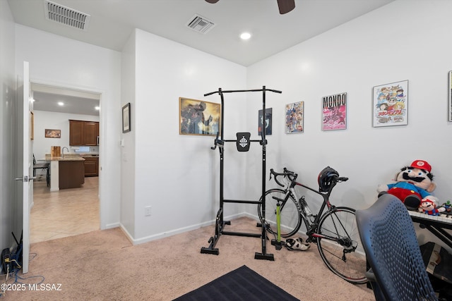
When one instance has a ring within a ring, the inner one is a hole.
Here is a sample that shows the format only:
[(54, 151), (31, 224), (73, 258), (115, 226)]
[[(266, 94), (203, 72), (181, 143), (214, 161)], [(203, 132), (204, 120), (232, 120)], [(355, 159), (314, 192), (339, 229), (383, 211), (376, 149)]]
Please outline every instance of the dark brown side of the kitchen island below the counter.
[(85, 183), (83, 161), (59, 161), (59, 189), (79, 188)]

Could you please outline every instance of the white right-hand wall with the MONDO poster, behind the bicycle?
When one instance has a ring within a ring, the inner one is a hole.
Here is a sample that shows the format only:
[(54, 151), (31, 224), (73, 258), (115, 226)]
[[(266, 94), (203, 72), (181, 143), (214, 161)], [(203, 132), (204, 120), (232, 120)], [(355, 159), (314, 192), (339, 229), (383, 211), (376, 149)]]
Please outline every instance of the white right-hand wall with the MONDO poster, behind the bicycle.
[[(424, 159), (436, 196), (451, 199), (451, 11), (451, 1), (395, 1), (249, 67), (249, 88), (264, 83), (283, 91), (268, 101), (274, 118), (268, 168), (287, 166), (316, 187), (319, 171), (330, 165), (350, 178), (335, 188), (335, 204), (362, 209), (376, 200), (377, 185)], [(401, 80), (409, 80), (408, 125), (373, 128), (372, 87)], [(322, 132), (321, 99), (340, 92), (347, 92), (347, 129)], [(285, 104), (299, 101), (304, 133), (287, 135)], [(248, 106), (257, 111), (259, 104)], [(255, 187), (257, 179), (248, 178)]]

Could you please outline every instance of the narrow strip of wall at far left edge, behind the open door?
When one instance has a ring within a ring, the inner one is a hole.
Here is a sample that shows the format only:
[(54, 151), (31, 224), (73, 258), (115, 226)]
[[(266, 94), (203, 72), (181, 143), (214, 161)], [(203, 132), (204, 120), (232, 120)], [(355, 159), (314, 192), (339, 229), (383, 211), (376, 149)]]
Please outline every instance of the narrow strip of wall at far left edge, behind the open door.
[(0, 249), (11, 247), (11, 231), (20, 235), (20, 228), (13, 228), (16, 215), (14, 211), (14, 188), (16, 182), (16, 143), (14, 135), (16, 71), (14, 68), (14, 34), (15, 26), (11, 10), (6, 0), (0, 0)]

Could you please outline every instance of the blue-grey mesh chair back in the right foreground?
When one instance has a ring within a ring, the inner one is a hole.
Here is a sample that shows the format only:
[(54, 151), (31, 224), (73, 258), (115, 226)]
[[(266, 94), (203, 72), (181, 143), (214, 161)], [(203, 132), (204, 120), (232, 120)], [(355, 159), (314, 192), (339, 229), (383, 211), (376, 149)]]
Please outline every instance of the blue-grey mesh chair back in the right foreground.
[(374, 295), (379, 300), (437, 300), (422, 261), (415, 228), (405, 205), (382, 195), (356, 220)]

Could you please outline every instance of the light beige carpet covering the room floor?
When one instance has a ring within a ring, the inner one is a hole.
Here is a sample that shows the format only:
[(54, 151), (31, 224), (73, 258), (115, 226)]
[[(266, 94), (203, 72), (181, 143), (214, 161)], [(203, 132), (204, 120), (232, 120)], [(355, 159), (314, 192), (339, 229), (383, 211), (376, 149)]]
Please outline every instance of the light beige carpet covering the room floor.
[[(315, 245), (295, 252), (275, 250), (268, 242), (267, 253), (275, 257), (271, 262), (254, 259), (254, 253), (261, 252), (260, 238), (222, 235), (218, 256), (201, 254), (214, 228), (135, 246), (119, 228), (37, 242), (31, 246), (36, 256), (30, 272), (23, 277), (43, 276), (49, 287), (61, 283), (61, 290), (7, 291), (0, 301), (173, 300), (242, 265), (300, 300), (374, 300), (366, 285), (347, 283), (329, 271)], [(225, 231), (260, 233), (256, 221), (247, 218), (233, 220)], [(26, 286), (41, 280), (19, 279)]]

